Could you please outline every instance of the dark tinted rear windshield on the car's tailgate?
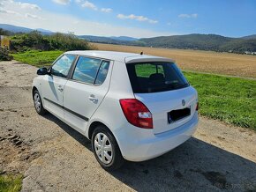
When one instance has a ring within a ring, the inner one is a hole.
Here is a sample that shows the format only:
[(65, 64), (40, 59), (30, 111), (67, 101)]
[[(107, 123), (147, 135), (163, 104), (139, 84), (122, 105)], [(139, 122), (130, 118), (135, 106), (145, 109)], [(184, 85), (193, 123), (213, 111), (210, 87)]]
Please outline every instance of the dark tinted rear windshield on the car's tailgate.
[(175, 63), (126, 63), (134, 93), (167, 92), (189, 86)]

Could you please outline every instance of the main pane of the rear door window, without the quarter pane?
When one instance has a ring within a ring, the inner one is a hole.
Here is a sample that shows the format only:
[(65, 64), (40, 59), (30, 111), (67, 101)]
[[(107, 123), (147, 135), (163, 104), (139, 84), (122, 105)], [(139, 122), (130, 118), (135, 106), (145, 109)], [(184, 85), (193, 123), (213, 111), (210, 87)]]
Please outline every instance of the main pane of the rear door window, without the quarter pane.
[(79, 61), (74, 70), (72, 79), (87, 84), (94, 84), (94, 80), (96, 78), (101, 63), (101, 59), (80, 56)]

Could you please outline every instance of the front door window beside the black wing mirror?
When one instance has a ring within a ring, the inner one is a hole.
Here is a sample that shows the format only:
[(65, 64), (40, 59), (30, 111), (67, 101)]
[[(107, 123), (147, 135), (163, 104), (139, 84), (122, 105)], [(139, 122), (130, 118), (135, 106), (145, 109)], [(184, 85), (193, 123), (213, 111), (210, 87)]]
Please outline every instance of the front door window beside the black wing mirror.
[(57, 77), (66, 78), (75, 57), (75, 55), (63, 55), (51, 67), (50, 73)]

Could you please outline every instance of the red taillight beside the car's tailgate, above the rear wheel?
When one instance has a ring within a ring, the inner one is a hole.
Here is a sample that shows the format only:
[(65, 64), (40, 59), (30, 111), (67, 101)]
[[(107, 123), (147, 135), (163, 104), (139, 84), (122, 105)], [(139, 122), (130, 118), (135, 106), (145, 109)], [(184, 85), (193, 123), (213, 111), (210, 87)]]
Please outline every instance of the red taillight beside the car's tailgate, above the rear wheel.
[(120, 100), (124, 116), (132, 125), (139, 128), (153, 129), (153, 118), (148, 108), (139, 100)]

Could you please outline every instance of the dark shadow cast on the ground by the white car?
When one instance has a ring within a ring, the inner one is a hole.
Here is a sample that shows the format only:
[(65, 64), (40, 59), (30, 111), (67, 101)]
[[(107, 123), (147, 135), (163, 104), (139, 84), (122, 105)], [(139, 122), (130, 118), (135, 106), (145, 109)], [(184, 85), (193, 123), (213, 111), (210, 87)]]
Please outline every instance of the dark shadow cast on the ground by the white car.
[[(52, 114), (45, 118), (92, 151), (79, 132)], [(159, 158), (127, 161), (109, 174), (137, 191), (256, 191), (254, 162), (195, 137)]]

